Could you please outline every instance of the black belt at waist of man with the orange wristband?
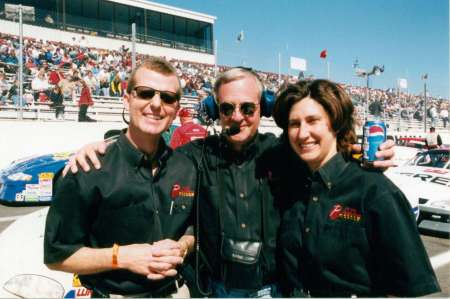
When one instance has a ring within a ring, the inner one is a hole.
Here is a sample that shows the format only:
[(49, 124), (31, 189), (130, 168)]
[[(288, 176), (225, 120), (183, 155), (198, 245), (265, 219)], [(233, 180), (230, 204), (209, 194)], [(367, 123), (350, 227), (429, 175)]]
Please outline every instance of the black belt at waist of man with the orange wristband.
[(178, 278), (159, 289), (149, 290), (148, 292), (137, 293), (137, 294), (114, 294), (108, 291), (100, 290), (96, 287), (91, 288), (92, 291), (91, 298), (167, 298), (173, 293), (175, 293), (179, 287), (183, 286), (184, 279)]

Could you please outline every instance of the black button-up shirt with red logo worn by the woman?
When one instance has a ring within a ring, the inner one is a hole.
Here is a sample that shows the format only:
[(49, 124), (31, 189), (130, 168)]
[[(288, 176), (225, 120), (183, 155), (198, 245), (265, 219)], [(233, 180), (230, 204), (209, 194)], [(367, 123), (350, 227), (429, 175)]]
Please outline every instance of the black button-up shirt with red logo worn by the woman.
[(382, 173), (336, 154), (307, 181), (280, 227), (291, 288), (318, 297), (439, 291), (411, 206)]

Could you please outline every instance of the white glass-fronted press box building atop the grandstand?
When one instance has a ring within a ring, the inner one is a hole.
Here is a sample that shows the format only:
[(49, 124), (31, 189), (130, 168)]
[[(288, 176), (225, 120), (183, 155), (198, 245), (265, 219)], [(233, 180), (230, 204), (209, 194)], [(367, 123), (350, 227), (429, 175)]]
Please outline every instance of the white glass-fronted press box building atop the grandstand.
[(137, 52), (215, 63), (214, 16), (144, 0), (0, 0), (1, 31), (12, 35), (19, 31), (8, 4), (34, 8), (34, 20), (24, 20), (26, 36), (118, 49), (130, 46), (135, 22)]

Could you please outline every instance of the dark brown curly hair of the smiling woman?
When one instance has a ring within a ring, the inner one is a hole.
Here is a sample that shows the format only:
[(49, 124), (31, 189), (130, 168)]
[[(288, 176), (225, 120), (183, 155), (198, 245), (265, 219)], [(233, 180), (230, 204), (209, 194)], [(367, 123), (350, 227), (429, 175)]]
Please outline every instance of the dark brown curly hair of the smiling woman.
[(315, 100), (325, 109), (331, 127), (336, 133), (337, 151), (349, 156), (350, 145), (356, 142), (353, 104), (345, 90), (329, 80), (300, 80), (278, 92), (273, 118), (277, 126), (283, 129), (284, 138), (287, 138), (289, 113), (292, 106), (307, 97)]

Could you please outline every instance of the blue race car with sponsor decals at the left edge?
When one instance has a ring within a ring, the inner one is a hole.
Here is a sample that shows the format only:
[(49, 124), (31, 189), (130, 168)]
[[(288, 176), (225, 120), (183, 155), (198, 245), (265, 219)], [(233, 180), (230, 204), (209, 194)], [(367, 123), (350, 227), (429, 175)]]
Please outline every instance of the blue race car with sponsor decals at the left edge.
[(12, 162), (0, 170), (0, 203), (5, 205), (48, 205), (52, 180), (71, 153), (34, 156)]

